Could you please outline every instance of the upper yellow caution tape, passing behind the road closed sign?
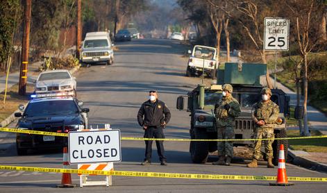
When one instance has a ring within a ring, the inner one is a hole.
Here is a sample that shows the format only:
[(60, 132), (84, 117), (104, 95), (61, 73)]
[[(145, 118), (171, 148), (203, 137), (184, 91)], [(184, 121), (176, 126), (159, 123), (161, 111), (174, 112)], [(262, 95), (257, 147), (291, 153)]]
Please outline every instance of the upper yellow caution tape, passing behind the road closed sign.
[[(25, 134), (34, 134), (34, 135), (52, 135), (59, 137), (68, 137), (68, 133), (55, 133), (55, 132), (47, 132), (47, 131), (35, 131), (35, 130), (27, 130), (22, 128), (2, 128), (0, 127), (0, 131), (4, 132), (12, 132), (12, 133), (25, 133)], [(274, 140), (305, 140), (305, 139), (320, 139), (327, 138), (327, 135), (318, 135), (318, 136), (308, 136), (308, 137), (281, 137), (275, 138)], [(160, 141), (174, 141), (174, 142), (228, 142), (228, 141), (259, 141), (259, 140), (271, 140), (267, 139), (173, 139), (173, 138), (144, 138), (144, 137), (121, 137), (121, 140), (135, 140), (135, 141), (152, 141), (152, 140), (160, 140)]]

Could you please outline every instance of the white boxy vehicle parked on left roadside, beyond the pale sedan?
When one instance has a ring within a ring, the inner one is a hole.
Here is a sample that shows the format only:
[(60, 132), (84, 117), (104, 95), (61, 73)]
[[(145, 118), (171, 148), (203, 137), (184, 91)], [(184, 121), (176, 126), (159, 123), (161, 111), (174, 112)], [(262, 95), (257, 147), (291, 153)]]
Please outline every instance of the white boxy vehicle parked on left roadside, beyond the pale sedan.
[(87, 33), (82, 47), (82, 65), (105, 63), (112, 65), (114, 62), (113, 44), (110, 33), (97, 31)]

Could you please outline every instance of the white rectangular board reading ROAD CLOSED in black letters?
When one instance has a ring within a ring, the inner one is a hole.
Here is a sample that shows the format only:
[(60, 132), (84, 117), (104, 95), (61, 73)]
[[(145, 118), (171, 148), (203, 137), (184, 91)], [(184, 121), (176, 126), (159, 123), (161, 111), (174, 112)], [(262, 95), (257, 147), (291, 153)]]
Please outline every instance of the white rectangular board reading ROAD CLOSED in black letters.
[(73, 131), (68, 141), (71, 164), (121, 161), (119, 130)]

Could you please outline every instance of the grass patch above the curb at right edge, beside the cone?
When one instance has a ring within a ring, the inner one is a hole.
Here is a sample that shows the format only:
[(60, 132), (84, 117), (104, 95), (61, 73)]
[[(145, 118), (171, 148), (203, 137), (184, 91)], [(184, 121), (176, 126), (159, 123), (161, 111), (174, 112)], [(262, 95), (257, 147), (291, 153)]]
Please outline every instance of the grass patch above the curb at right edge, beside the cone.
[[(312, 136), (322, 135), (320, 131), (311, 131)], [(299, 137), (299, 130), (288, 130), (287, 137)], [(306, 139), (306, 140), (288, 140), (290, 149), (302, 150), (307, 152), (327, 153), (327, 138)]]

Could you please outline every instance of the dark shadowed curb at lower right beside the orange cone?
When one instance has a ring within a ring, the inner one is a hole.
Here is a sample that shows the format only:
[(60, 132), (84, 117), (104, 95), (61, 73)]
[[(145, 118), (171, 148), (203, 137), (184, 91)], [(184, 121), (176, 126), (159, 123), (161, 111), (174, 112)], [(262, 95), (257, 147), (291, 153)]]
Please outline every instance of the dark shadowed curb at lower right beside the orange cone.
[(309, 158), (303, 158), (301, 156), (296, 156), (291, 149), (288, 149), (288, 156), (292, 158), (291, 163), (299, 167), (304, 167), (306, 169), (321, 171), (327, 173), (327, 165), (319, 162), (310, 160)]

